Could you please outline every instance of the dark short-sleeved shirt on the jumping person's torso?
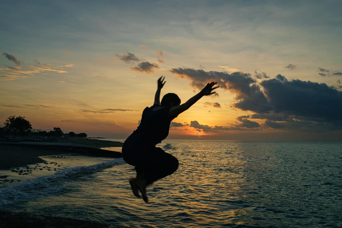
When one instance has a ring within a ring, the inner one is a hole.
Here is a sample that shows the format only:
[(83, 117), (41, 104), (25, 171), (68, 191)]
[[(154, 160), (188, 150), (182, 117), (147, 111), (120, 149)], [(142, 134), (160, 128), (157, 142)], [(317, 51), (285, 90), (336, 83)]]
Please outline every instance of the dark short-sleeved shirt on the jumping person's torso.
[(169, 135), (170, 123), (174, 117), (169, 116), (171, 107), (153, 105), (143, 111), (140, 125), (126, 139), (125, 149), (154, 147)]

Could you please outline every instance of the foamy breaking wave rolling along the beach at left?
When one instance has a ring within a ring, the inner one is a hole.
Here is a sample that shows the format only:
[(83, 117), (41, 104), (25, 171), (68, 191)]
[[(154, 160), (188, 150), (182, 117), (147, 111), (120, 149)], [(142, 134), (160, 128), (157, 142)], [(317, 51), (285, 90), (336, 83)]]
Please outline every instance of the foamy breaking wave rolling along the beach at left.
[(67, 180), (82, 178), (124, 163), (123, 159), (120, 158), (96, 165), (72, 167), (61, 172), (56, 172), (53, 175), (40, 176), (25, 180), (16, 185), (1, 188), (0, 208), (29, 201), (42, 195), (56, 194), (65, 188), (63, 182)]

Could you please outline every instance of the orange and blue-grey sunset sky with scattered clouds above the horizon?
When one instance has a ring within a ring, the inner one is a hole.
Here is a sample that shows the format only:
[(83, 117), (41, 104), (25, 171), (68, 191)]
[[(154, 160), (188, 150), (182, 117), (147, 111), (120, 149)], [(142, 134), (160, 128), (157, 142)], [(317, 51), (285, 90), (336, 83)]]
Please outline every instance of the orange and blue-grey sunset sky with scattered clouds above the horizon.
[(2, 1), (0, 123), (126, 138), (157, 79), (168, 139), (342, 141), (341, 1)]

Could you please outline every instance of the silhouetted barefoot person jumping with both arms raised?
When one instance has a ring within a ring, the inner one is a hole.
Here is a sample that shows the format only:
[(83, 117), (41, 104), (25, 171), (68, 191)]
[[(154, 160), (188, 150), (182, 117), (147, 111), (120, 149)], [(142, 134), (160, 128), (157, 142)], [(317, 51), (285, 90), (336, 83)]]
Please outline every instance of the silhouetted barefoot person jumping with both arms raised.
[(123, 160), (135, 166), (136, 178), (129, 181), (133, 194), (140, 198), (140, 191), (146, 203), (148, 203), (146, 186), (174, 173), (178, 168), (178, 160), (156, 147), (156, 144), (168, 136), (170, 123), (174, 118), (195, 104), (201, 97), (215, 93), (212, 91), (218, 88), (218, 86), (213, 87), (217, 83), (208, 83), (184, 104), (181, 104), (181, 99), (177, 94), (167, 93), (160, 103), (160, 90), (166, 82), (164, 79), (163, 76), (158, 79), (154, 104), (144, 109), (140, 125), (122, 146)]

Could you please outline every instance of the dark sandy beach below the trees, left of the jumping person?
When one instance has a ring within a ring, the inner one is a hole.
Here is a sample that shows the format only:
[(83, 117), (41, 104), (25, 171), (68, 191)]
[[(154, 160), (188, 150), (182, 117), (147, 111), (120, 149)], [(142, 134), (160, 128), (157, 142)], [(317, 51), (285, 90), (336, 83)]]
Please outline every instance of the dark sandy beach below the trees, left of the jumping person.
[(100, 149), (123, 143), (98, 139), (60, 139), (57, 142), (0, 142), (0, 170), (43, 162), (39, 156), (79, 153), (90, 156), (121, 157), (121, 152)]

